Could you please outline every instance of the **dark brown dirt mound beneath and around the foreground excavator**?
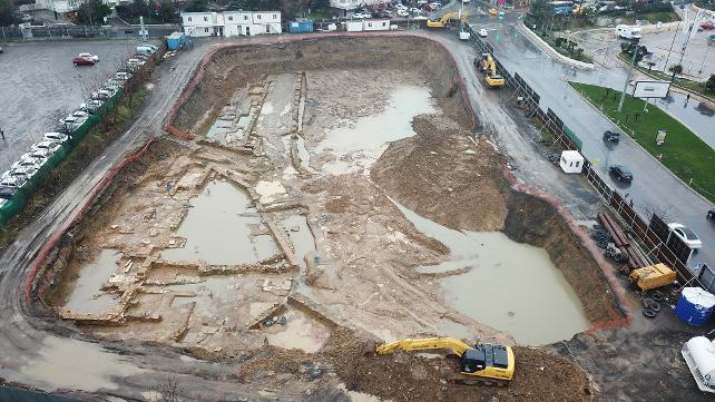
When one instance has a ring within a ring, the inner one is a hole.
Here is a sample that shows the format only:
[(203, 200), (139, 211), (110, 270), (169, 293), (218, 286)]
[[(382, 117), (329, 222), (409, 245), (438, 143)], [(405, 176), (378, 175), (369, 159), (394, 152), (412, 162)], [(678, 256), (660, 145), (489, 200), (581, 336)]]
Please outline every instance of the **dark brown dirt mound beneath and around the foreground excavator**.
[(516, 347), (515, 379), (507, 388), (448, 382), (459, 370), (457, 359), (428, 359), (415, 353), (376, 356), (364, 353), (369, 341), (336, 332), (323, 347), (349, 390), (393, 401), (597, 401), (588, 375), (550, 352)]

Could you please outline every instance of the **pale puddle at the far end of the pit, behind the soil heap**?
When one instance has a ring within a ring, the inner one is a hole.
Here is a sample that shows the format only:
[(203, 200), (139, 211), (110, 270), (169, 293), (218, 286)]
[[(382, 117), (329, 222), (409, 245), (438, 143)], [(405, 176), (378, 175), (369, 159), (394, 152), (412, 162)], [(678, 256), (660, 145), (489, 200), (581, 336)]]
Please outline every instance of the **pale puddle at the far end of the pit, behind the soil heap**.
[(435, 111), (430, 99), (430, 90), (425, 87), (398, 87), (382, 112), (361, 117), (353, 126), (326, 134), (317, 150), (332, 154), (335, 160), (324, 164), (322, 169), (340, 175), (370, 168), (390, 141), (415, 134), (411, 125), (414, 116)]

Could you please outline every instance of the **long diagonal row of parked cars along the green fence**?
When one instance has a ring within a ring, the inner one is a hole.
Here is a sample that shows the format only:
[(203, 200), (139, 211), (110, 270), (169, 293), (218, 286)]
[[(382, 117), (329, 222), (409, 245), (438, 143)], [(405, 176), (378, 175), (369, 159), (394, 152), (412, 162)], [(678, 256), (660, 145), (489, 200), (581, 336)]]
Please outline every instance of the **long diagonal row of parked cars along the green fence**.
[(29, 151), (23, 154), (18, 161), (0, 175), (0, 207), (37, 175), (59, 149), (68, 144), (68, 141), (71, 141), (72, 134), (81, 127), (91, 115), (98, 112), (107, 99), (114, 97), (119, 89), (124, 88), (133, 73), (144, 66), (146, 60), (156, 50), (158, 50), (158, 48), (151, 46), (151, 52), (137, 52), (136, 56), (128, 59), (120, 71), (115, 72), (110, 79), (94, 91), (89, 99), (79, 105), (76, 110), (60, 118), (52, 131), (46, 133), (40, 141), (33, 144)]

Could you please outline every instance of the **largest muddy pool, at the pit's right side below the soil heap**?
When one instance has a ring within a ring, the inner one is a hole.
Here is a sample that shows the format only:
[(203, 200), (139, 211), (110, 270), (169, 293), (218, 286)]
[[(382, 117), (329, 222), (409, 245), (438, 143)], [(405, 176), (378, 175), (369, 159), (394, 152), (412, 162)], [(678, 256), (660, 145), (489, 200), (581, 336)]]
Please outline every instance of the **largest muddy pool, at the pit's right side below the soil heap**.
[(438, 280), (447, 304), (459, 313), (528, 345), (570, 339), (589, 327), (578, 296), (543, 248), (501, 232), (453, 231), (395, 205), (418, 231), (450, 248), (449, 261), (420, 273), (469, 268)]

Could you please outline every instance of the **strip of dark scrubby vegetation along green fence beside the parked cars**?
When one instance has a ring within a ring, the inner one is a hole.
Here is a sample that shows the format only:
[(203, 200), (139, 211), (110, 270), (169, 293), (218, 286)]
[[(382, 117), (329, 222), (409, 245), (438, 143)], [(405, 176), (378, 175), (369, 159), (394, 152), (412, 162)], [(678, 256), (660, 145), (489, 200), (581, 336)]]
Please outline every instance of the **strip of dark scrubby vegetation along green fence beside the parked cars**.
[(114, 141), (134, 120), (144, 104), (146, 92), (143, 88), (131, 96), (123, 97), (105, 119), (98, 122), (79, 144), (45, 179), (28, 204), (10, 220), (0, 227), (0, 251), (12, 243), (18, 233), (32, 223), (42, 210), (77, 177), (107, 146)]

